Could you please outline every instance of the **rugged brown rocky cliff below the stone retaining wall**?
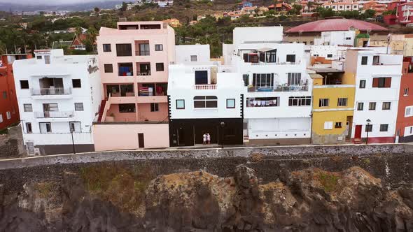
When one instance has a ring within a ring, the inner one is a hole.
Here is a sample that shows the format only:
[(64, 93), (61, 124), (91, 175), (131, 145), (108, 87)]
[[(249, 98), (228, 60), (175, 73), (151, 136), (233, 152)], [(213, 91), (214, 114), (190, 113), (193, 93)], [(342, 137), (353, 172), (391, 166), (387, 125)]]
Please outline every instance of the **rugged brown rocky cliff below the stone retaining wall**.
[(413, 188), (358, 167), (262, 183), (244, 165), (230, 177), (85, 166), (1, 185), (0, 206), (0, 231), (413, 231)]

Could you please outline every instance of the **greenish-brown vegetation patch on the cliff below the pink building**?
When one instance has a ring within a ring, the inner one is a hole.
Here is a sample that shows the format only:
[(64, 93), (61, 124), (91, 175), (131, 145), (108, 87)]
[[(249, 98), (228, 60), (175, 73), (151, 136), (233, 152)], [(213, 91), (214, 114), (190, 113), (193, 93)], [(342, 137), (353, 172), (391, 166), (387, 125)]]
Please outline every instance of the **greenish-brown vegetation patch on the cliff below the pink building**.
[(149, 168), (130, 170), (115, 164), (81, 168), (80, 177), (90, 194), (110, 201), (126, 212), (135, 212), (154, 175)]

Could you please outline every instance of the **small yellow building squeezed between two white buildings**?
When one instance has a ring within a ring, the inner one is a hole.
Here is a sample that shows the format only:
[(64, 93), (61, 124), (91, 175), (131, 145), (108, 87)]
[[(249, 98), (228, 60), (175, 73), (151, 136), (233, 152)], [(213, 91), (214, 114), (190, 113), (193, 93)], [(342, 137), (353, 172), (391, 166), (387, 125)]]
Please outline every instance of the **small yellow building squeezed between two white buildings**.
[(346, 143), (351, 139), (356, 92), (353, 75), (336, 68), (313, 67), (309, 73), (314, 85), (311, 143)]

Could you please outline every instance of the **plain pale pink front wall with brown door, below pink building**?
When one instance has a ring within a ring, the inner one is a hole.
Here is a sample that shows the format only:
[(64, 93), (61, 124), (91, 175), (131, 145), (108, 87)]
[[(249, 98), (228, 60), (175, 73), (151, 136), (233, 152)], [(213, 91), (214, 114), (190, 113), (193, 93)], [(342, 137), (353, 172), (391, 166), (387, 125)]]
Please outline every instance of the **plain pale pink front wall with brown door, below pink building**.
[(138, 133), (144, 133), (144, 148), (169, 147), (167, 123), (102, 123), (93, 124), (96, 151), (138, 149)]

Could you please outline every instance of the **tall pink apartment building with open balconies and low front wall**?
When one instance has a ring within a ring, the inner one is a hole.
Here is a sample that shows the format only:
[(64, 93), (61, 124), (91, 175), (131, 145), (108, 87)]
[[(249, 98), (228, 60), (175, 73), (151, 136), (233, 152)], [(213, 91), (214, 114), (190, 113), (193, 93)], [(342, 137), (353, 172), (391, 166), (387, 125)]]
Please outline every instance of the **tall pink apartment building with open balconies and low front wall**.
[(95, 150), (169, 146), (167, 82), (174, 46), (167, 22), (118, 22), (117, 29), (100, 29), (104, 101), (94, 124)]

